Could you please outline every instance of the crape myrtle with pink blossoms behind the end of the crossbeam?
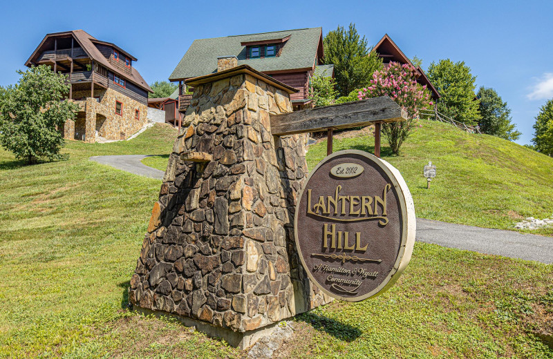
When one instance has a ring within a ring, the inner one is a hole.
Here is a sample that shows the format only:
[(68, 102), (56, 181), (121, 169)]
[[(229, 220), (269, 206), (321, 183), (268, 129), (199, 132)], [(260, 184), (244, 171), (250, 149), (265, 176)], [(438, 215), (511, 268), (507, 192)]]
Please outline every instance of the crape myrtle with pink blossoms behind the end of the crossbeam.
[(379, 96), (390, 97), (407, 113), (404, 122), (382, 125), (382, 133), (392, 152), (397, 155), (411, 130), (419, 126), (417, 120), (420, 110), (431, 108), (430, 93), (427, 86), (417, 83), (417, 72), (413, 66), (393, 62), (388, 69), (376, 71), (371, 84), (357, 92), (359, 100)]

